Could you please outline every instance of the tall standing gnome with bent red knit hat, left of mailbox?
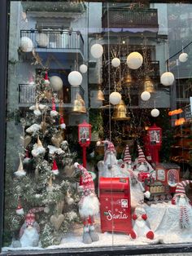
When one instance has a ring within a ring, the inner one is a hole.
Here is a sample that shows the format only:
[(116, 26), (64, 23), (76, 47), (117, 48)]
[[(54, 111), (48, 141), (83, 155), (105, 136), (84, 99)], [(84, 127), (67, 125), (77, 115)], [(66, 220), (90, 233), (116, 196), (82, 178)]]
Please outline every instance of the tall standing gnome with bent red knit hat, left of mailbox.
[(82, 191), (81, 200), (79, 202), (79, 213), (83, 219), (83, 242), (90, 244), (98, 241), (98, 234), (94, 231), (94, 215), (99, 212), (99, 201), (94, 191), (94, 181), (92, 175), (78, 163), (74, 166), (81, 171), (80, 187)]

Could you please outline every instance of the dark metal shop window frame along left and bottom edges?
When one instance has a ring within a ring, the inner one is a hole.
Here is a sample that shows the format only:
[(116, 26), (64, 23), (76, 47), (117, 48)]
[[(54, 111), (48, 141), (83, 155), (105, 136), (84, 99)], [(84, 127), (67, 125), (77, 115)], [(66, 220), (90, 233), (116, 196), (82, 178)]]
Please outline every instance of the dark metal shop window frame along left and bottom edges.
[[(33, 0), (36, 1), (36, 0)], [(40, 1), (40, 0), (39, 0)], [(54, 0), (52, 0), (54, 2)], [(7, 103), (7, 55), (8, 55), (8, 15), (11, 0), (1, 0), (0, 8), (0, 251), (2, 249), (2, 231), (3, 231), (3, 210), (4, 210), (4, 173), (5, 173), (5, 148), (6, 148), (6, 103)], [(89, 2), (89, 1), (88, 1)], [(91, 2), (94, 2), (92, 0)], [(96, 1), (95, 1), (96, 2)], [(99, 2), (99, 1), (97, 1)], [(122, 1), (123, 2), (123, 1)], [(152, 2), (152, 1), (151, 1)], [(164, 1), (154, 1), (164, 2)], [(172, 2), (172, 1), (170, 1)], [(175, 1), (181, 2), (181, 1)], [(133, 246), (111, 246), (111, 247), (93, 247), (85, 249), (46, 249), (46, 250), (20, 250), (2, 252), (1, 255), (136, 255), (136, 254), (164, 254), (164, 253), (190, 253), (192, 252), (192, 243), (189, 244), (171, 244), (171, 245), (133, 245)]]

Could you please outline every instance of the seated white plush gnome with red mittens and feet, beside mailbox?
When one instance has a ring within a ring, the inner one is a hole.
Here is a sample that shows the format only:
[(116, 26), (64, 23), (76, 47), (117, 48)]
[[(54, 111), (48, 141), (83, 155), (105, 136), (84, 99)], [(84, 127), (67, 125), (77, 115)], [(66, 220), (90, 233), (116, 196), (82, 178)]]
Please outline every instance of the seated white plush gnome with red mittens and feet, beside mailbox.
[(146, 236), (146, 238), (153, 240), (154, 232), (151, 231), (149, 223), (146, 221), (146, 210), (141, 203), (137, 204), (134, 214), (132, 216), (134, 220), (133, 230), (130, 233), (130, 237), (135, 239), (139, 236)]

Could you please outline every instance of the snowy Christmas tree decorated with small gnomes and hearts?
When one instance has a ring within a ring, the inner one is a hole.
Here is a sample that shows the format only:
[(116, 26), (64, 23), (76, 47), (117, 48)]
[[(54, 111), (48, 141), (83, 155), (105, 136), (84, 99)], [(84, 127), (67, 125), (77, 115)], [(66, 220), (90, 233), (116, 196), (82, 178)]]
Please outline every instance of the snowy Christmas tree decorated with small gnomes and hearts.
[[(14, 156), (20, 164), (7, 164), (5, 188), (4, 225), (14, 234), (13, 246), (58, 245), (78, 221), (78, 177), (73, 167), (76, 153), (70, 152), (64, 139), (66, 126), (57, 81), (50, 83), (47, 71), (41, 71), (34, 85), (35, 104), (20, 113), (23, 135)], [(28, 226), (37, 232), (36, 241), (30, 241), (30, 236), (29, 241), (24, 239)]]

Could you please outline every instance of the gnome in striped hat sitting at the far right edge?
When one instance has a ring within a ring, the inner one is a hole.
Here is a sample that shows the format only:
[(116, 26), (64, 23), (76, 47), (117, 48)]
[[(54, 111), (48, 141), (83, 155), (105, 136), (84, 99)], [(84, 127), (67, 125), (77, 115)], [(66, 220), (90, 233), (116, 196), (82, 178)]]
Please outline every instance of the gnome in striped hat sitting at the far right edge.
[(190, 200), (185, 194), (185, 187), (192, 183), (190, 180), (181, 181), (177, 183), (175, 196), (172, 198), (172, 205), (178, 205), (180, 207), (180, 225), (181, 228), (189, 227), (189, 213), (187, 205), (190, 205)]

